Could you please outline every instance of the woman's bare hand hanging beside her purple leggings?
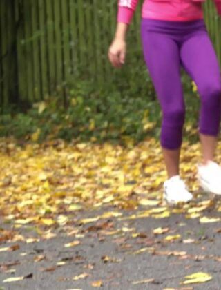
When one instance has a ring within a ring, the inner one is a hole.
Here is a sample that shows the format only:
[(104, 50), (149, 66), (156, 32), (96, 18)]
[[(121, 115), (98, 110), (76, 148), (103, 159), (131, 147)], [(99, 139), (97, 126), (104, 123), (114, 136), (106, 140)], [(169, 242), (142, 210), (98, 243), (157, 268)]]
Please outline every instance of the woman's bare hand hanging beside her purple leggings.
[(111, 61), (111, 64), (115, 66), (115, 68), (121, 68), (125, 63), (125, 57), (126, 41), (124, 39), (115, 38), (108, 50), (108, 58)]

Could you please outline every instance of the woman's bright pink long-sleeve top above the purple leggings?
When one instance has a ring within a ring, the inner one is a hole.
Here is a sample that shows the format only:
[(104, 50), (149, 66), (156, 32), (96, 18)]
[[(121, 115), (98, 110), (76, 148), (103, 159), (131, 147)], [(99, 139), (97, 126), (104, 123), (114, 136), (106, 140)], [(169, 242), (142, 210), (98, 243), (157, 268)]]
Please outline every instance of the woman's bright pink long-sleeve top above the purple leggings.
[[(139, 0), (118, 0), (117, 22), (130, 24)], [(144, 0), (142, 18), (188, 21), (203, 18), (206, 0)], [(213, 0), (221, 16), (221, 0)]]

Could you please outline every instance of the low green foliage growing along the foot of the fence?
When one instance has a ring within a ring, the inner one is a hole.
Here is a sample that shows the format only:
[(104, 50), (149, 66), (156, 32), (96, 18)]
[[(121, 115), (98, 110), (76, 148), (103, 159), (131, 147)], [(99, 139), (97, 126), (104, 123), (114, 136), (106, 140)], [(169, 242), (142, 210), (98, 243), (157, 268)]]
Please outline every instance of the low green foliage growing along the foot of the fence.
[[(135, 70), (133, 70), (135, 73)], [(34, 104), (26, 113), (7, 113), (0, 117), (0, 135), (41, 142), (62, 138), (79, 142), (140, 142), (146, 136), (160, 136), (162, 113), (151, 79), (144, 71), (141, 81), (97, 88), (93, 81), (69, 84), (67, 104), (60, 97), (49, 97)], [(124, 72), (123, 72), (124, 75)], [(124, 76), (122, 77), (124, 78)], [(139, 78), (138, 78), (139, 79)], [(186, 99), (186, 124), (193, 141), (197, 135), (199, 99), (193, 93), (191, 80), (182, 75)], [(144, 84), (146, 87), (144, 88)], [(191, 124), (191, 125), (190, 125)], [(184, 136), (185, 137), (185, 136)]]

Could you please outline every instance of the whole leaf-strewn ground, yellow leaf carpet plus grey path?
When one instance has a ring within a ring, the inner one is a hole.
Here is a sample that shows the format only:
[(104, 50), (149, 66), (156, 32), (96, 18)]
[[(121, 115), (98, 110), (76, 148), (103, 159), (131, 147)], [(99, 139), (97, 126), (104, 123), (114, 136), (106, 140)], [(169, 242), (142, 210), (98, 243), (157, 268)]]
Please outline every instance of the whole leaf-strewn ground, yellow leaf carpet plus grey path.
[[(0, 143), (0, 289), (220, 289), (221, 202), (168, 208), (160, 144)], [(221, 162), (221, 145), (216, 160)]]

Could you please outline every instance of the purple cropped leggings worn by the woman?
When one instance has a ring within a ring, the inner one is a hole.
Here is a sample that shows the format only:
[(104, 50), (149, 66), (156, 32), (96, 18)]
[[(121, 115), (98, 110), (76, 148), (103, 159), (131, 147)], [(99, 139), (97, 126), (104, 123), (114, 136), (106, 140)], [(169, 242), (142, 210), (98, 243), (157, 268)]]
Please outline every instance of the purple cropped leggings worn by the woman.
[(185, 104), (180, 65), (198, 87), (199, 132), (217, 136), (221, 117), (220, 68), (204, 19), (142, 19), (141, 36), (146, 66), (162, 108), (162, 147), (176, 149), (182, 144)]

